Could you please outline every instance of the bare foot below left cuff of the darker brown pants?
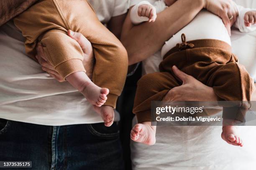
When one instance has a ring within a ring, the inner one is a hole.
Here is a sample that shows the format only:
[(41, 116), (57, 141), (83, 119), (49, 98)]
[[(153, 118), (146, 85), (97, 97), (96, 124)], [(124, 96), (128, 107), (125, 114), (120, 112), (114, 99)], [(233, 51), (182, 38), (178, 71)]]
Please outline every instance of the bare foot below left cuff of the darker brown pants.
[(131, 140), (146, 145), (154, 145), (156, 143), (156, 127), (151, 126), (150, 123), (136, 124), (131, 130)]

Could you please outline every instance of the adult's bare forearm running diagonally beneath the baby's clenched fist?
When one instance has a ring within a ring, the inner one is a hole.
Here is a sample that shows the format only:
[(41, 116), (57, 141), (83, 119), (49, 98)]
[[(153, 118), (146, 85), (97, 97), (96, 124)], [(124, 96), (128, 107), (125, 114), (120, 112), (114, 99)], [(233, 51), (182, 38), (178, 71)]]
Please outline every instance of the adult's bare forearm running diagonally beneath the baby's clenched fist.
[(145, 60), (161, 49), (164, 42), (195, 18), (203, 7), (203, 0), (178, 0), (158, 13), (154, 23), (136, 26), (131, 24), (128, 13), (121, 41), (128, 52), (129, 65)]

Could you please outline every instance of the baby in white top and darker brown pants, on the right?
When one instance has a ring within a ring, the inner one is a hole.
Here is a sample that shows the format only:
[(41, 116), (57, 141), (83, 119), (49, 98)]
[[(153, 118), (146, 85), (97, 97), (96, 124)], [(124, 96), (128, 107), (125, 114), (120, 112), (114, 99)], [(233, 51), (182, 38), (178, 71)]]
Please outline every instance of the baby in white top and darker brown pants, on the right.
[[(139, 24), (154, 22), (156, 13), (173, 5), (176, 0), (157, 0), (154, 5), (140, 2), (131, 9), (131, 22)], [(256, 30), (256, 10), (237, 6), (238, 18), (233, 24), (241, 32)], [(233, 17), (230, 17), (232, 20)], [(183, 34), (183, 33), (186, 33)], [(181, 38), (182, 37), (182, 42)], [(172, 72), (177, 65), (180, 70), (213, 87), (219, 101), (250, 101), (253, 81), (248, 72), (231, 52), (231, 41), (221, 18), (207, 10), (202, 10), (187, 26), (165, 42), (161, 50), (163, 61), (160, 72), (144, 75), (138, 81), (133, 112), (138, 124), (131, 130), (131, 139), (153, 145), (156, 141), (156, 126), (151, 126), (151, 101), (160, 101), (167, 92), (182, 82)], [(236, 110), (234, 119), (244, 121), (248, 105)], [(228, 120), (223, 107), (223, 122)], [(240, 135), (233, 125), (223, 125), (223, 140), (231, 145), (243, 146)]]

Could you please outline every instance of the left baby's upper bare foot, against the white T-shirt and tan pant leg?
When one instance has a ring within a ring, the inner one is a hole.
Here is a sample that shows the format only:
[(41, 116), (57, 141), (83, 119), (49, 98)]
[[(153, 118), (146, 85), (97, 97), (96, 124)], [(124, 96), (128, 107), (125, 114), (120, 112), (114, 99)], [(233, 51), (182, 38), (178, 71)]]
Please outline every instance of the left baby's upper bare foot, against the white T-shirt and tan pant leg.
[(100, 88), (93, 82), (88, 82), (87, 85), (84, 85), (81, 93), (92, 105), (100, 107), (106, 102), (109, 90), (107, 88)]

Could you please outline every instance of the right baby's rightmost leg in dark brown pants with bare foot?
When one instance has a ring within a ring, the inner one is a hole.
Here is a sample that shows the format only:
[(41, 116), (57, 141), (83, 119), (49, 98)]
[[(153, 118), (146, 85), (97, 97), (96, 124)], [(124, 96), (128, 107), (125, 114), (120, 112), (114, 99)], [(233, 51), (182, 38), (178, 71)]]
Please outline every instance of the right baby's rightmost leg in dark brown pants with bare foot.
[[(219, 65), (209, 82), (218, 100), (235, 101), (237, 106), (223, 106), (223, 132), (221, 137), (227, 143), (243, 146), (241, 137), (234, 125), (244, 121), (246, 111), (250, 107), (253, 84), (246, 69), (237, 62)], [(239, 102), (242, 101), (242, 102)], [(239, 105), (238, 105), (239, 104)]]

